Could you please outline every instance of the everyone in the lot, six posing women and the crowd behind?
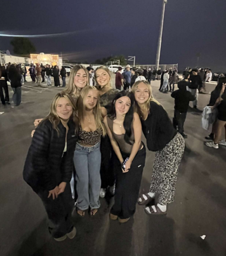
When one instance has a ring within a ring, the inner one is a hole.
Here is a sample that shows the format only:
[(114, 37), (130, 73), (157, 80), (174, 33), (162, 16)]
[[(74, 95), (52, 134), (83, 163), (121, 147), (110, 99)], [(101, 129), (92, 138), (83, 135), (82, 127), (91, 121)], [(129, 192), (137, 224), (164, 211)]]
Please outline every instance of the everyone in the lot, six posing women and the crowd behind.
[[(59, 86), (62, 69), (51, 69), (49, 65), (42, 69), (38, 64), (31, 68), (36, 72), (30, 72), (30, 76), (36, 74), (38, 83), (47, 78), (51, 85), (51, 76), (57, 76), (54, 81)], [(4, 82), (9, 79), (18, 104), (21, 69), (15, 65), (10, 65), (8, 71), (0, 69), (1, 87), (7, 94)], [(48, 116), (34, 121), (36, 129), (32, 131), (23, 179), (43, 201), (50, 220), (49, 231), (56, 241), (76, 236), (71, 218), (74, 206), (81, 217), (87, 212), (95, 216), (100, 197), (104, 198), (107, 192), (114, 196), (109, 217), (120, 223), (133, 217), (136, 203), (145, 206), (148, 215), (166, 214), (168, 204), (175, 198), (187, 138), (183, 125), (189, 102), (197, 109), (197, 95), (202, 91), (203, 80), (211, 79), (211, 71), (202, 77), (203, 71), (190, 69), (183, 73), (181, 81), (176, 70), (160, 72), (159, 69), (159, 74), (156, 71), (150, 76), (146, 69), (127, 65), (122, 71), (119, 67), (115, 89), (107, 67), (100, 66), (94, 71), (75, 65), (67, 86), (53, 98)], [(173, 122), (153, 97), (150, 81), (154, 79), (161, 80), (159, 91), (172, 91)], [(218, 114), (211, 134), (206, 137), (212, 141), (206, 145), (215, 149), (218, 144), (226, 145), (225, 140), (219, 142), (222, 129), (226, 131), (225, 86), (225, 77), (221, 77), (209, 102), (210, 109), (218, 109)], [(155, 159), (150, 189), (139, 195), (146, 157), (142, 132), (147, 149), (155, 152)]]

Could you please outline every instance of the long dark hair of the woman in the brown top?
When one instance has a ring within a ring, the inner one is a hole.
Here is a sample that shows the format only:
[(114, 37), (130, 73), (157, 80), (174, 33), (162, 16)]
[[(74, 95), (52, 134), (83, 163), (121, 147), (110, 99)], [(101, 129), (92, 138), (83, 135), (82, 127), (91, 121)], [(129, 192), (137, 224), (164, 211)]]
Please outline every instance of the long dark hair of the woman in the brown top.
[(135, 102), (135, 97), (133, 95), (133, 93), (131, 93), (130, 91), (119, 91), (119, 93), (117, 93), (116, 97), (114, 97), (114, 100), (112, 101), (112, 105), (110, 107), (110, 111), (109, 111), (109, 118), (114, 120), (116, 118), (116, 100), (121, 98), (121, 97), (128, 97), (130, 98), (131, 101), (131, 106), (129, 111), (126, 113), (126, 116), (124, 118), (124, 122), (123, 122), (123, 126), (124, 129), (126, 130), (126, 133), (124, 135), (124, 140), (126, 143), (131, 145), (130, 142), (130, 137), (131, 137), (131, 124), (133, 123), (133, 113), (134, 113), (134, 102)]

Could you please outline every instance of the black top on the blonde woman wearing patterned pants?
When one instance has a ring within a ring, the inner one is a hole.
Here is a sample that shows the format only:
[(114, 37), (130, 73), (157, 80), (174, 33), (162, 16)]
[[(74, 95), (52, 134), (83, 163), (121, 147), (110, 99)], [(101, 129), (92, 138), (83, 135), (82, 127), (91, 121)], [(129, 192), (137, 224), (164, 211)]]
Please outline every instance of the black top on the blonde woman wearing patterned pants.
[(176, 135), (167, 112), (156, 102), (150, 102), (150, 113), (145, 121), (142, 120), (142, 130), (149, 151), (160, 151)]

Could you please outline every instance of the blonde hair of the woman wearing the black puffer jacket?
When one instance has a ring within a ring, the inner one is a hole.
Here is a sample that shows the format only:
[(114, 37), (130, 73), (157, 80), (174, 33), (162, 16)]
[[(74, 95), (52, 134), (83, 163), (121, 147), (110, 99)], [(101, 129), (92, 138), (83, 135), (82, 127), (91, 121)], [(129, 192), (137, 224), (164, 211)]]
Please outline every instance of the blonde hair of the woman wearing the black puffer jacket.
[(56, 105), (60, 98), (66, 98), (66, 100), (68, 100), (70, 102), (70, 104), (72, 105), (72, 116), (70, 118), (74, 119), (74, 121), (77, 119), (76, 105), (74, 104), (74, 101), (72, 100), (70, 95), (68, 93), (65, 93), (65, 91), (61, 91), (60, 93), (57, 93), (51, 103), (50, 112), (49, 112), (48, 116), (46, 116), (46, 118), (43, 119), (43, 121), (46, 119), (50, 120), (50, 122), (53, 124), (53, 129), (55, 129), (57, 131), (58, 135), (59, 135), (58, 125), (60, 123), (60, 118), (56, 112)]

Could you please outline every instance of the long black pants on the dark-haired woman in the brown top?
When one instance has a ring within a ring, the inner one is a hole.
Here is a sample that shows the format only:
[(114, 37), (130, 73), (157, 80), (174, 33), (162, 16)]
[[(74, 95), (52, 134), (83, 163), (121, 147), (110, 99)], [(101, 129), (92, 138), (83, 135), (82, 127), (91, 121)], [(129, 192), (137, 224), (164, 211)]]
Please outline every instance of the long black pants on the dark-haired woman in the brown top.
[[(123, 159), (128, 157), (126, 154), (122, 155)], [(123, 173), (121, 164), (117, 159), (115, 203), (110, 213), (117, 215), (121, 219), (130, 218), (136, 211), (145, 157), (146, 149), (143, 145), (143, 149), (137, 152), (127, 173)]]

